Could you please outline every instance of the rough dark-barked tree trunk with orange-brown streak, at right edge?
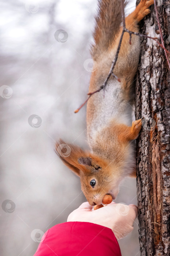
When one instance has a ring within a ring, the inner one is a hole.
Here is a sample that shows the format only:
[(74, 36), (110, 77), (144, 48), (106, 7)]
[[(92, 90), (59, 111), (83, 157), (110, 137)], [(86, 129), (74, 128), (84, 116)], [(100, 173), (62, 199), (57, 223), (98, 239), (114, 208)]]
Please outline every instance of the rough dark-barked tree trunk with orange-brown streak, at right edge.
[[(170, 51), (170, 0), (159, 0), (157, 9), (165, 48)], [(141, 34), (159, 37), (154, 5), (140, 27)], [(142, 38), (135, 86), (135, 117), (145, 117), (137, 139), (137, 197), (142, 256), (170, 255), (169, 84), (170, 72), (163, 49), (152, 39)]]

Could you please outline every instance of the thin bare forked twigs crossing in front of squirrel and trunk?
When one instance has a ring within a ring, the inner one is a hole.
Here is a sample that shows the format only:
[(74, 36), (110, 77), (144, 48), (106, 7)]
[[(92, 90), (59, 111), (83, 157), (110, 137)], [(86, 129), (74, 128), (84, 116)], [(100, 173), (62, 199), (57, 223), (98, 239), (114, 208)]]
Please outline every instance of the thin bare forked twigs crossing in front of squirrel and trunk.
[(110, 68), (110, 71), (108, 73), (108, 76), (107, 78), (104, 80), (104, 83), (99, 87), (98, 90), (96, 91), (93, 91), (92, 93), (88, 93), (87, 95), (89, 95), (89, 97), (86, 99), (86, 101), (78, 108), (74, 111), (74, 113), (77, 113), (79, 112), (79, 110), (86, 104), (86, 102), (88, 101), (88, 99), (90, 99), (91, 95), (95, 94), (95, 93), (98, 93), (99, 91), (101, 90), (105, 90), (106, 88), (106, 85), (107, 85), (107, 82), (110, 78), (111, 75), (113, 75), (119, 82), (120, 82), (120, 78), (118, 78), (114, 73), (113, 73), (113, 70), (115, 68), (115, 65), (116, 65), (116, 61), (118, 60), (118, 55), (119, 55), (119, 52), (120, 52), (120, 47), (121, 47), (121, 44), (122, 44), (122, 39), (123, 39), (123, 35), (124, 35), (124, 32), (127, 32), (129, 33), (130, 35), (130, 38), (129, 38), (129, 44), (131, 44), (131, 35), (138, 35), (140, 37), (145, 37), (145, 38), (150, 38), (150, 39), (153, 39), (155, 42), (157, 42), (157, 44), (163, 48), (164, 52), (165, 52), (165, 56), (166, 56), (166, 59), (167, 59), (167, 63), (169, 65), (169, 68), (170, 68), (170, 63), (169, 63), (169, 59), (167, 57), (167, 53), (170, 54), (170, 52), (168, 50), (165, 49), (165, 45), (164, 45), (164, 42), (163, 42), (163, 37), (162, 37), (162, 32), (161, 32), (161, 25), (159, 23), (159, 17), (158, 17), (158, 10), (157, 10), (157, 5), (156, 5), (156, 0), (154, 0), (154, 4), (155, 4), (155, 12), (156, 12), (156, 16), (157, 16), (157, 20), (158, 20), (158, 27), (159, 27), (159, 31), (160, 31), (160, 36), (161, 36), (161, 42), (162, 44), (160, 44), (158, 42), (158, 38), (157, 37), (150, 37), (149, 35), (143, 35), (143, 34), (140, 34), (140, 33), (137, 33), (137, 32), (133, 32), (133, 31), (130, 31), (129, 29), (126, 28), (126, 23), (125, 23), (125, 15), (124, 15), (124, 0), (121, 0), (121, 8), (122, 8), (122, 34), (120, 35), (120, 39), (119, 39), (119, 44), (118, 44), (118, 48), (116, 50), (116, 54), (115, 54), (115, 57), (114, 57), (114, 60), (112, 61), (112, 65), (111, 65), (111, 68)]

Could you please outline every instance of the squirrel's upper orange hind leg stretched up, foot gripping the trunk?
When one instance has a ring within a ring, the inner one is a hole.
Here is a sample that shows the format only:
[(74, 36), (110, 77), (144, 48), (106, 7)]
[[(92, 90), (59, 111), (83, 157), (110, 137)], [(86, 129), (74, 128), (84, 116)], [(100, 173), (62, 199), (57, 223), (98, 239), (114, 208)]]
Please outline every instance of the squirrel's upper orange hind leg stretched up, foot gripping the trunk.
[[(138, 22), (150, 13), (150, 5), (154, 0), (141, 0), (136, 9), (125, 18), (126, 29), (139, 32)], [(116, 36), (115, 44), (113, 45), (114, 52), (118, 48), (119, 39), (122, 34), (122, 27)], [(137, 35), (131, 35), (131, 44), (129, 44), (130, 35), (125, 32), (120, 47), (118, 61), (116, 63), (114, 74), (120, 79), (122, 76), (126, 77), (132, 82), (134, 75), (137, 71), (139, 53), (140, 53), (140, 40)], [(112, 50), (112, 49), (111, 49)]]

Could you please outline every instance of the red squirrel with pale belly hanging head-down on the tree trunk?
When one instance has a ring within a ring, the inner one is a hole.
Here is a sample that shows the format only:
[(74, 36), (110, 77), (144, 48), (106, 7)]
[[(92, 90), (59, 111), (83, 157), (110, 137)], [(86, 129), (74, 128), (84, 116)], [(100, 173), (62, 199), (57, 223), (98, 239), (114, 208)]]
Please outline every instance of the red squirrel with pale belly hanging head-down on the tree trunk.
[[(126, 19), (126, 28), (139, 32), (138, 22), (150, 13), (154, 0), (141, 0)], [(91, 74), (89, 92), (99, 89), (106, 79), (122, 33), (122, 14), (119, 0), (100, 0), (96, 17), (94, 45), (91, 55), (97, 68)], [(137, 72), (140, 39), (137, 35), (123, 35), (114, 76), (103, 91), (93, 94), (87, 102), (87, 138), (91, 151), (67, 144), (56, 143), (56, 151), (63, 163), (80, 177), (81, 188), (90, 205), (102, 203), (110, 194), (113, 199), (126, 176), (135, 176), (135, 146), (142, 120), (132, 122), (133, 82)], [(65, 146), (63, 146), (65, 145)], [(68, 154), (62, 154), (64, 150)], [(63, 150), (63, 151), (62, 151)]]

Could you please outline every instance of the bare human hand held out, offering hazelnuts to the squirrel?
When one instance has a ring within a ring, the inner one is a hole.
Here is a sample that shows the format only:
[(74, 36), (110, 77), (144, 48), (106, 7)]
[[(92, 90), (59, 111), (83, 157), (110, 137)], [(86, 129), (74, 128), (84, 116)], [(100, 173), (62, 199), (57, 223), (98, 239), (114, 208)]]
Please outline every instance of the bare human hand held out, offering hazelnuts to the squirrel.
[(78, 209), (68, 216), (69, 221), (91, 222), (110, 228), (115, 237), (126, 237), (133, 230), (133, 223), (138, 216), (138, 208), (134, 204), (116, 204), (112, 202), (96, 211), (88, 203), (82, 203)]

